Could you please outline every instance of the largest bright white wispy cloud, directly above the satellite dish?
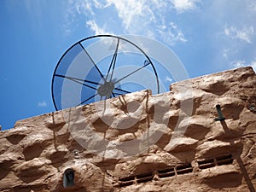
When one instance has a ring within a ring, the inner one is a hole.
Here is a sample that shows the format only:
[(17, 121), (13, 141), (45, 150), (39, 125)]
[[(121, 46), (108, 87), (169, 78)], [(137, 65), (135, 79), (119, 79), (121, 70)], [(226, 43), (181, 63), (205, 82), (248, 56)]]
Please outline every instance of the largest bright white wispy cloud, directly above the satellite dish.
[(170, 2), (146, 0), (108, 0), (118, 12), (125, 26), (125, 32), (146, 35), (148, 38), (159, 38), (165, 44), (174, 45), (186, 42), (183, 32), (174, 22), (170, 22)]

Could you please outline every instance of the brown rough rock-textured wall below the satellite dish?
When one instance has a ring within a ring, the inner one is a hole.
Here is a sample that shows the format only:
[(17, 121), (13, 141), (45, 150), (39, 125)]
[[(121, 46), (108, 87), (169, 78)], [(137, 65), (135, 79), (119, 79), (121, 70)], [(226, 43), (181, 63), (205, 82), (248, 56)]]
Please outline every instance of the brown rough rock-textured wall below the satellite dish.
[(211, 74), (18, 121), (0, 132), (0, 191), (252, 192), (255, 134), (253, 69)]

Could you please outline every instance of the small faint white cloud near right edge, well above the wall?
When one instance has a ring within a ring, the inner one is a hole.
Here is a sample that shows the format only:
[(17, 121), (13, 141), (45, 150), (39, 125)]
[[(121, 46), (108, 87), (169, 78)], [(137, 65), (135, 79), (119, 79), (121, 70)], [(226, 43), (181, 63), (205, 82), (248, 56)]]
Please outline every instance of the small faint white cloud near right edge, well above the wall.
[(235, 26), (225, 26), (224, 34), (232, 39), (240, 39), (248, 44), (252, 44), (254, 34), (253, 26), (244, 26), (242, 29), (237, 29)]

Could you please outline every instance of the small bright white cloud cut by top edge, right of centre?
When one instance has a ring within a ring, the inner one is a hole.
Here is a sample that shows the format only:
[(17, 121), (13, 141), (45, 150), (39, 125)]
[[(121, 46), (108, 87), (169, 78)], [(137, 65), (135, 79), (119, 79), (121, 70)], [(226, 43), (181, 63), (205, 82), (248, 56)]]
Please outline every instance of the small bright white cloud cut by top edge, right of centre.
[(178, 13), (184, 12), (186, 10), (195, 9), (196, 3), (199, 3), (200, 0), (171, 0), (174, 8)]

